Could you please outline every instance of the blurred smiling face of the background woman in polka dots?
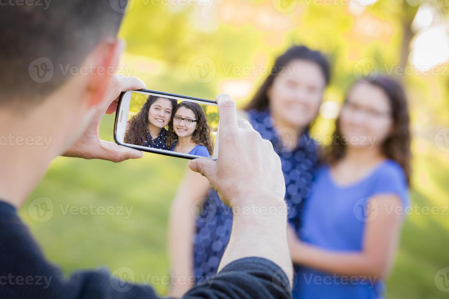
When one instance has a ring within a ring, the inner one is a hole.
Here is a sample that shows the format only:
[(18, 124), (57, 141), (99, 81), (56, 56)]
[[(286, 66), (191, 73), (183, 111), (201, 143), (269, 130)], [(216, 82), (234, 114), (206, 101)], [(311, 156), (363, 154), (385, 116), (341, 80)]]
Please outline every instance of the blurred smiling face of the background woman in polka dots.
[(285, 125), (308, 126), (318, 114), (325, 87), (326, 78), (316, 63), (291, 61), (267, 92), (273, 117)]

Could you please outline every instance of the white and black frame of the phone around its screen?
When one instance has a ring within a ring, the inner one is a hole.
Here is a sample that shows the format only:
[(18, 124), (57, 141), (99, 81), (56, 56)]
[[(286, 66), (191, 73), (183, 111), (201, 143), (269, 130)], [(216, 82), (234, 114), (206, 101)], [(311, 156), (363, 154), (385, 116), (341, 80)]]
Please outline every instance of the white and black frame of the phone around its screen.
[[(212, 101), (212, 100), (195, 98), (195, 97), (187, 96), (187, 95), (177, 95), (177, 94), (163, 92), (163, 91), (154, 91), (154, 90), (150, 90), (150, 89), (136, 89), (136, 90), (130, 90), (130, 91), (144, 91), (144, 92), (150, 92), (150, 93), (157, 94), (157, 95), (170, 95), (170, 96), (176, 96), (178, 98), (182, 98), (182, 99), (186, 99), (186, 100), (197, 100), (197, 101), (200, 101), (200, 102), (217, 104), (216, 101)], [(184, 158), (184, 159), (189, 159), (189, 160), (200, 158), (200, 156), (188, 156), (187, 154), (183, 154), (183, 153), (179, 153), (179, 152), (169, 152), (169, 151), (167, 151), (167, 152), (159, 152), (159, 151), (154, 150), (152, 147), (148, 147), (148, 149), (146, 149), (146, 148), (142, 149), (141, 147), (134, 147), (134, 146), (132, 146), (132, 145), (130, 145), (128, 143), (126, 143), (126, 144), (120, 143), (117, 140), (117, 124), (118, 124), (118, 121), (119, 121), (119, 114), (120, 114), (119, 112), (120, 112), (120, 107), (121, 107), (121, 104), (122, 104), (123, 95), (125, 95), (126, 92), (129, 92), (129, 91), (123, 91), (123, 92), (120, 93), (119, 103), (117, 104), (117, 110), (115, 112), (115, 120), (114, 120), (114, 141), (115, 141), (115, 143), (117, 143), (117, 144), (119, 144), (121, 146), (124, 146), (124, 147), (134, 148), (134, 149), (139, 150), (139, 151), (152, 152), (152, 153), (156, 153), (156, 154), (164, 155), (164, 156), (172, 156), (172, 157)], [(218, 121), (217, 136), (219, 135), (219, 133), (218, 133), (219, 131), (220, 131), (220, 120)], [(216, 145), (218, 146), (218, 143), (216, 143)], [(215, 159), (211, 158), (211, 159), (217, 160), (216, 158)]]

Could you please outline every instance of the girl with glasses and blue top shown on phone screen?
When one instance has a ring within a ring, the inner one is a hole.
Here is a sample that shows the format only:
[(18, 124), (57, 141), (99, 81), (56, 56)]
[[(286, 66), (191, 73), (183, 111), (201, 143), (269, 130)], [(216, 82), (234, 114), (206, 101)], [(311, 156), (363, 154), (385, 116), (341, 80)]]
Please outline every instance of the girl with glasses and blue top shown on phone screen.
[(167, 148), (174, 152), (211, 157), (214, 150), (211, 127), (199, 104), (184, 101), (176, 106), (168, 124)]

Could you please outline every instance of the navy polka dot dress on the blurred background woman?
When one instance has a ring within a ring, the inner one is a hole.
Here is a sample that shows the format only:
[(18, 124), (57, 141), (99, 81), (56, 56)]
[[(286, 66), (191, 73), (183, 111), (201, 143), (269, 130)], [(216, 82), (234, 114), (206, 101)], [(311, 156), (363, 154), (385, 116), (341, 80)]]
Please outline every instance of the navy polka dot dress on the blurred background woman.
[[(310, 193), (312, 180), (318, 168), (317, 145), (308, 133), (297, 140), (293, 151), (283, 150), (273, 129), (269, 111), (249, 111), (251, 125), (262, 138), (270, 140), (281, 158), (286, 183), (288, 220), (299, 232), (300, 212), (304, 199)], [(296, 139), (294, 139), (296, 141)], [(214, 276), (229, 242), (232, 228), (232, 210), (223, 204), (216, 191), (209, 191), (199, 208), (194, 235), (194, 275), (197, 283)]]

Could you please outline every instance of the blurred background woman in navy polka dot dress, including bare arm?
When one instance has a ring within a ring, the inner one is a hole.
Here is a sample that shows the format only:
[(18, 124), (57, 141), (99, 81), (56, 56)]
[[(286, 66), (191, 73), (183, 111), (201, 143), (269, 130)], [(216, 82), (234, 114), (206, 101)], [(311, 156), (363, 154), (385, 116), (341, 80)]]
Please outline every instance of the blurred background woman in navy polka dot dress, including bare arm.
[[(309, 195), (318, 165), (317, 147), (308, 130), (329, 81), (326, 57), (294, 46), (277, 58), (269, 77), (240, 115), (262, 138), (273, 143), (281, 158), (288, 218), (295, 230), (299, 230), (301, 204)], [(220, 201), (207, 180), (188, 171), (170, 217), (169, 249), (175, 277), (185, 281), (194, 275), (198, 283), (216, 274), (229, 242), (232, 217), (231, 209)], [(170, 296), (181, 296), (189, 287), (177, 281)]]

